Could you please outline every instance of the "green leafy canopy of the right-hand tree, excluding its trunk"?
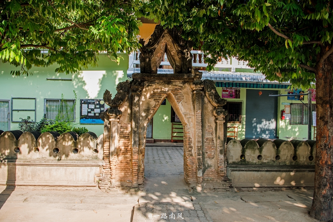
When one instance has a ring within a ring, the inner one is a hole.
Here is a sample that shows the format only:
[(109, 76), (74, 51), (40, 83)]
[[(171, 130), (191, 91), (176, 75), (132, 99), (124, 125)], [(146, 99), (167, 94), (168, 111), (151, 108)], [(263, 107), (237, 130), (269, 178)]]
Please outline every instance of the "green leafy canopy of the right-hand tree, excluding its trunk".
[(156, 0), (145, 7), (161, 25), (181, 26), (197, 47), (203, 41), (207, 69), (221, 57), (238, 56), (270, 80), (309, 86), (321, 46), (331, 49), (329, 1)]

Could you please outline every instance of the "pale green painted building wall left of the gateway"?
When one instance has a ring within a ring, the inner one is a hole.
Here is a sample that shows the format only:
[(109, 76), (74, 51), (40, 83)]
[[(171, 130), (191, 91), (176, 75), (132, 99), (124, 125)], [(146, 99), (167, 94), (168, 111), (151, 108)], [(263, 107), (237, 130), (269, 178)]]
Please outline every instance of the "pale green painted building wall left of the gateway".
[[(97, 67), (70, 75), (55, 73), (56, 65), (52, 65), (46, 68), (33, 67), (30, 70), (33, 73), (32, 76), (13, 77), (10, 75), (10, 71), (19, 68), (8, 63), (0, 63), (0, 100), (11, 100), (13, 97), (36, 98), (36, 119), (39, 121), (44, 115), (44, 99), (61, 99), (61, 95), (64, 99), (74, 99), (74, 90), (77, 94), (74, 124), (77, 124), (76, 127), (84, 126), (99, 136), (103, 133), (103, 124), (79, 124), (80, 99), (103, 99), (106, 89), (112, 95), (117, 93), (117, 84), (127, 80), (129, 62), (126, 54), (121, 54), (121, 56), (124, 60), (121, 60), (120, 65), (117, 65), (107, 55), (101, 54)], [(46, 78), (73, 80), (53, 81)], [(25, 118), (26, 116), (20, 117)], [(11, 122), (10, 129), (18, 129), (18, 123)]]

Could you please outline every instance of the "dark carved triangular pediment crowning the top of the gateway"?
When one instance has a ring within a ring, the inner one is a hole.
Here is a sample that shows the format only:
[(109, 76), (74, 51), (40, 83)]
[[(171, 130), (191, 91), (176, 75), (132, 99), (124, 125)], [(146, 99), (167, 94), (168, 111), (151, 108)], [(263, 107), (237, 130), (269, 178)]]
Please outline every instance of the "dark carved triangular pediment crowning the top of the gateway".
[(181, 37), (181, 29), (163, 29), (157, 25), (149, 42), (140, 39), (142, 48), (140, 49), (140, 72), (157, 73), (164, 53), (173, 67), (174, 73), (191, 73), (192, 59), (191, 49), (192, 41), (184, 40)]

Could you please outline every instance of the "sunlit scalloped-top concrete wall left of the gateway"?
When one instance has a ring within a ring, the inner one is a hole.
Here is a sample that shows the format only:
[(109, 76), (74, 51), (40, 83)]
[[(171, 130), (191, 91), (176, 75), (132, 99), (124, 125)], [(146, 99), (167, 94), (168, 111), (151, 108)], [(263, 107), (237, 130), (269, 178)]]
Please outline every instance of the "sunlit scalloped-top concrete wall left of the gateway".
[(0, 135), (0, 184), (97, 186), (103, 135), (20, 130)]

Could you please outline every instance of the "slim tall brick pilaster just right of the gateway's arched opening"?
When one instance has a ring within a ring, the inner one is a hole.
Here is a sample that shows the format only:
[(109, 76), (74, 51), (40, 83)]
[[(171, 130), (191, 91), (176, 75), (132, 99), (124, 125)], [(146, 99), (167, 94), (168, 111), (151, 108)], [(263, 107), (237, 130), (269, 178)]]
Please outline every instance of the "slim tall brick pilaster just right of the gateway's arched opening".
[(194, 111), (195, 111), (195, 157), (196, 157), (196, 183), (201, 186), (202, 183), (202, 81), (194, 81), (191, 84), (194, 95)]

